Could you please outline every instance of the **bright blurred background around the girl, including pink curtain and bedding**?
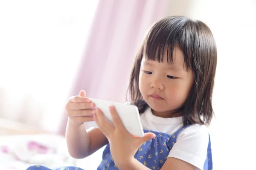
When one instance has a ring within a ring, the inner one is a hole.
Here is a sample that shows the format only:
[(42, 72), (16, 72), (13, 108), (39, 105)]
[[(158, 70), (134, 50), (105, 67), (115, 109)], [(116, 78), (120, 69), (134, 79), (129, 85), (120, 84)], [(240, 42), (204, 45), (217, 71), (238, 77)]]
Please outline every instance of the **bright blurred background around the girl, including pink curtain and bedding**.
[(0, 0), (0, 170), (95, 169), (102, 150), (64, 153), (67, 99), (85, 90), (125, 102), (143, 37), (169, 15), (203, 21), (217, 43), (214, 169), (255, 169), (255, 0)]

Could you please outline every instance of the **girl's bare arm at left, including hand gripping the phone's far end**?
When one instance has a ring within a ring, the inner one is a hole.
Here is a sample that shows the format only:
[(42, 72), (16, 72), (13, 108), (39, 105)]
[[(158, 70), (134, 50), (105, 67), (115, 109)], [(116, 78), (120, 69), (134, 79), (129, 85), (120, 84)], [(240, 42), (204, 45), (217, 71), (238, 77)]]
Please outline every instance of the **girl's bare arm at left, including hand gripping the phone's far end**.
[(68, 122), (66, 129), (67, 148), (70, 156), (81, 159), (94, 153), (108, 143), (107, 138), (99, 129), (85, 130), (84, 123), (93, 121), (95, 104), (86, 97), (85, 91), (79, 96), (72, 96), (67, 102)]

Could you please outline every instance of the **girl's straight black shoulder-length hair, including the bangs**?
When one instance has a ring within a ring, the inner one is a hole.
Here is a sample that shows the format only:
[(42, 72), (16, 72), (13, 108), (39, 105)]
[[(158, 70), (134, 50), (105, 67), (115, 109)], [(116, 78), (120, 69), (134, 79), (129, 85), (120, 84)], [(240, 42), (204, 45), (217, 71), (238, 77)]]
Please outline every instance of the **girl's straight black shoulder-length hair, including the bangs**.
[(199, 20), (184, 16), (163, 18), (154, 24), (145, 37), (131, 71), (129, 92), (131, 104), (137, 105), (140, 113), (149, 106), (139, 90), (140, 64), (146, 59), (163, 62), (167, 49), (167, 62), (173, 63), (173, 50), (180, 48), (184, 54), (184, 66), (193, 71), (194, 82), (183, 111), (183, 124), (208, 125), (213, 116), (212, 91), (217, 65), (217, 49), (212, 32)]

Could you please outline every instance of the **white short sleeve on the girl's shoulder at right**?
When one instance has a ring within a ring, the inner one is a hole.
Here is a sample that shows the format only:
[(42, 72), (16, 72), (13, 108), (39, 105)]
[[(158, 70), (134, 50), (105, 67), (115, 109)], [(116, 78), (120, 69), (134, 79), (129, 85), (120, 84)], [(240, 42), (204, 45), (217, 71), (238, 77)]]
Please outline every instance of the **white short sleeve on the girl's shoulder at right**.
[(180, 132), (168, 157), (174, 157), (200, 170), (204, 168), (209, 143), (209, 132), (205, 125), (191, 125)]

